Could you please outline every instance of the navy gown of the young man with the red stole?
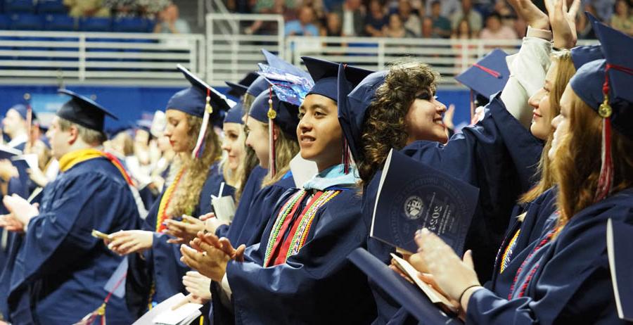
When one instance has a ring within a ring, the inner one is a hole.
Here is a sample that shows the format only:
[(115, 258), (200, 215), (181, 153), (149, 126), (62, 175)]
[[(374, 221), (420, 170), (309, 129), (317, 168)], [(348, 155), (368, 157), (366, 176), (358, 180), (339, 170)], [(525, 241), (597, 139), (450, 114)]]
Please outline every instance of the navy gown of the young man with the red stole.
[(296, 255), (262, 267), (281, 203), (297, 191), (290, 189), (279, 200), (261, 243), (247, 249), (246, 261), (226, 267), (236, 324), (369, 324), (375, 306), (366, 276), (347, 260), (367, 236), (354, 189), (321, 206)]

